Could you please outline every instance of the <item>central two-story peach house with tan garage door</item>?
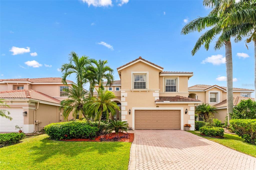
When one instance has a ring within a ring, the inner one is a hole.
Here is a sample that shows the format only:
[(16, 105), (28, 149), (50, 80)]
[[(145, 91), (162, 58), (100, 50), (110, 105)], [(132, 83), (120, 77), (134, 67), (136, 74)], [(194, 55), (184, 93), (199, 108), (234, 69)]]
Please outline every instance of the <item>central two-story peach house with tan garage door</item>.
[(191, 130), (195, 129), (195, 105), (201, 101), (188, 98), (188, 80), (193, 72), (163, 71), (141, 57), (117, 71), (121, 80), (111, 87), (103, 86), (115, 93), (113, 101), (121, 104), (121, 120), (130, 127), (183, 130), (184, 124), (191, 124)]

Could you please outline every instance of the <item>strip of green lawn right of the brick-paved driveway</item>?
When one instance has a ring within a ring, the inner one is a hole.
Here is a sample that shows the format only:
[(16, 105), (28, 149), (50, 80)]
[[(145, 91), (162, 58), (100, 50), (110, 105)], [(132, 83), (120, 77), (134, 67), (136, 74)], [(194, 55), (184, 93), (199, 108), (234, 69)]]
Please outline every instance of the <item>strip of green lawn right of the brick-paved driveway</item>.
[[(188, 132), (193, 133), (197, 136), (201, 136), (199, 131), (188, 131)], [(203, 137), (203, 136), (201, 136), (201, 137)], [(244, 142), (242, 140), (242, 138), (240, 138), (237, 135), (224, 133), (223, 139), (210, 138), (210, 137), (203, 137), (203, 138), (217, 142), (217, 143), (222, 144), (228, 148), (237, 150), (237, 151), (245, 153), (247, 155), (256, 157), (256, 145)]]

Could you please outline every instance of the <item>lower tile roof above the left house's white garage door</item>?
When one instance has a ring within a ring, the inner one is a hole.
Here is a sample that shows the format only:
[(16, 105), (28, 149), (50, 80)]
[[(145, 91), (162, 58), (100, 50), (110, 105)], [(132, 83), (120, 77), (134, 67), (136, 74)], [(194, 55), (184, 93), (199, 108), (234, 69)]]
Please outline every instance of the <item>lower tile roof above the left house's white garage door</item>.
[(0, 91), (0, 99), (2, 98), (35, 99), (60, 104), (60, 101), (58, 99), (52, 98), (51, 96), (31, 89)]

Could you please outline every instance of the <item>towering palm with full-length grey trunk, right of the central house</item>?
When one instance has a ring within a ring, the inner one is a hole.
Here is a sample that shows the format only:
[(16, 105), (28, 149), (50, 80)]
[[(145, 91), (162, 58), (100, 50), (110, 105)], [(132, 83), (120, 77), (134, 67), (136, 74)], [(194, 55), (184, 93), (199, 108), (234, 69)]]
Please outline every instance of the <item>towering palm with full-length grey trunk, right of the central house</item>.
[(244, 29), (241, 25), (228, 25), (223, 27), (223, 20), (226, 15), (234, 8), (235, 1), (230, 0), (204, 0), (203, 4), (208, 7), (212, 7), (212, 11), (206, 17), (199, 17), (189, 22), (181, 31), (181, 34), (188, 34), (190, 32), (201, 32), (205, 28), (210, 28), (197, 40), (192, 55), (200, 49), (202, 45), (206, 50), (209, 50), (209, 45), (214, 38), (220, 34), (215, 44), (215, 50), (220, 49), (225, 45), (226, 55), (226, 73), (227, 73), (227, 112), (228, 121), (230, 120), (229, 113), (233, 112), (233, 66), (232, 66), (232, 48), (231, 37), (236, 37), (239, 32)]

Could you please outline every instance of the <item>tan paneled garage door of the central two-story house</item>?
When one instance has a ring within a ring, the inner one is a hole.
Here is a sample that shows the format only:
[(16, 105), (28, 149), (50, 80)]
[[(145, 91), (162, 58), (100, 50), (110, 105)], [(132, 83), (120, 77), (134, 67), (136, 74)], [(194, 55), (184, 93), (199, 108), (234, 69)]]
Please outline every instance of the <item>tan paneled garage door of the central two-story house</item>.
[(180, 129), (180, 111), (135, 110), (135, 129)]

